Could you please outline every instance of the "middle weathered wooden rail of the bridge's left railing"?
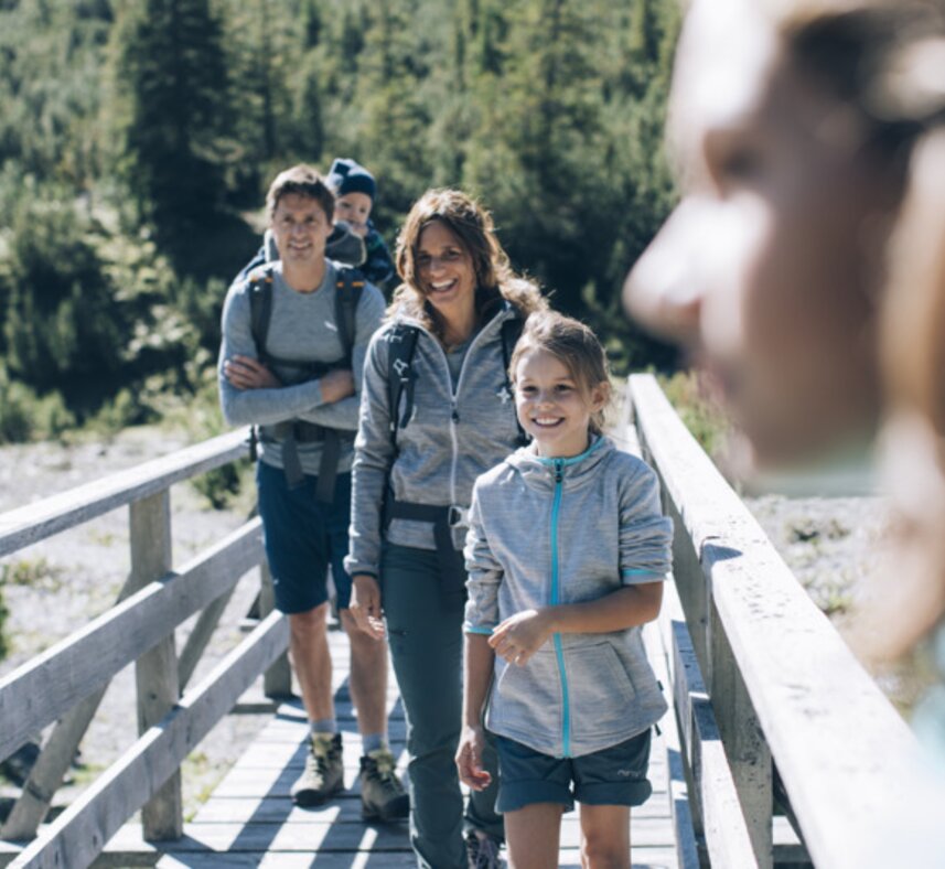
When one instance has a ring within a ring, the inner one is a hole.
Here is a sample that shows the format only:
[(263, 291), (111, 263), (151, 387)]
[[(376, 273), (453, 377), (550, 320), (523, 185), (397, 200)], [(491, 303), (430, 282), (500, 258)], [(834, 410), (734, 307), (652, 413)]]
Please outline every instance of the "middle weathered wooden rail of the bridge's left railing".
[(259, 519), (247, 523), (0, 679), (0, 759), (237, 582), (258, 562), (261, 539)]

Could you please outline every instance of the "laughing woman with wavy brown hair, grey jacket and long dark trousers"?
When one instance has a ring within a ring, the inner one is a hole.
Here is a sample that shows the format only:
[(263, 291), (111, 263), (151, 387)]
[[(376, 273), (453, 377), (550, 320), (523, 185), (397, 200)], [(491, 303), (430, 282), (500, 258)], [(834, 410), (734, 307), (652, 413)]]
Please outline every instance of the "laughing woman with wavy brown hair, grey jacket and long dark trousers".
[[(428, 191), (414, 205), (397, 240), (397, 270), (404, 283), (364, 371), (345, 560), (351, 609), (378, 640), (382, 612), (387, 620), (408, 721), (419, 865), (497, 866), (495, 787), (472, 794), (463, 818), (453, 763), (461, 549), (473, 482), (520, 438), (507, 382), (509, 335), (545, 302), (513, 273), (488, 213), (458, 191)], [(486, 762), (494, 773), (494, 754)]]

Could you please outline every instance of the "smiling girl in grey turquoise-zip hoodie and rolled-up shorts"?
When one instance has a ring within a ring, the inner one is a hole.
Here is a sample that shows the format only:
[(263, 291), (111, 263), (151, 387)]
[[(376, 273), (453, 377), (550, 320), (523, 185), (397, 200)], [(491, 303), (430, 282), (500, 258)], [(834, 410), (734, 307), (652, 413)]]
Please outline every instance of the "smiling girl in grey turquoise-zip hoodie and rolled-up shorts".
[(457, 764), (473, 791), (490, 783), (494, 672), (485, 725), (513, 866), (558, 865), (561, 814), (578, 800), (582, 865), (625, 869), (630, 806), (652, 790), (649, 728), (666, 710), (640, 625), (659, 611), (672, 523), (656, 475), (602, 434), (606, 360), (587, 326), (533, 315), (511, 372), (534, 441), (473, 490)]

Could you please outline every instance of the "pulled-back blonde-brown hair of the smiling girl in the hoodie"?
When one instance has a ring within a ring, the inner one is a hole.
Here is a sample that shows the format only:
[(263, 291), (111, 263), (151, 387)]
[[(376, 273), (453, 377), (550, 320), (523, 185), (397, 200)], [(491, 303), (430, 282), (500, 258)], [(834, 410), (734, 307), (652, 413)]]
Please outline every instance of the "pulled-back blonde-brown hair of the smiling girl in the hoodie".
[(610, 366), (598, 336), (583, 323), (557, 311), (541, 311), (528, 318), (522, 337), (508, 363), (508, 378), (515, 385), (515, 372), (526, 353), (540, 351), (558, 360), (578, 384), (586, 400), (594, 389), (603, 388), (602, 407), (591, 412), (590, 430), (602, 434), (611, 398)]

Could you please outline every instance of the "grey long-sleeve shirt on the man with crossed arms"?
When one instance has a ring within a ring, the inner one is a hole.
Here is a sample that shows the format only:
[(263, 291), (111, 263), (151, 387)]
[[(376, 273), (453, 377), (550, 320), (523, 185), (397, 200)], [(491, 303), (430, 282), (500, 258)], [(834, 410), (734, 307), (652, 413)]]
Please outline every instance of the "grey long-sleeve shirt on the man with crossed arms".
[[(335, 323), (337, 280), (337, 268), (329, 260), (321, 287), (314, 292), (297, 292), (282, 278), (281, 262), (272, 264), (272, 314), (266, 336), (266, 348), (270, 354), (300, 363), (331, 363), (342, 356), (343, 346)], [(223, 373), (224, 362), (237, 355), (258, 358), (259, 352), (251, 332), (249, 281), (235, 282), (223, 307), (223, 342), (218, 361), (221, 406), (226, 421), (232, 426), (268, 426), (301, 419), (330, 428), (357, 429), (364, 360), (371, 336), (384, 317), (384, 305), (380, 291), (365, 283), (355, 311), (352, 348), (354, 395), (340, 401), (325, 401), (320, 380), (298, 383), (300, 369), (292, 366), (276, 366), (273, 373), (282, 382), (282, 387), (237, 389)], [(299, 459), (305, 473), (318, 473), (321, 452), (320, 442), (299, 444)], [(282, 466), (279, 443), (264, 441), (259, 458), (275, 468)], [(339, 470), (348, 470), (351, 462), (352, 449), (345, 447)]]

